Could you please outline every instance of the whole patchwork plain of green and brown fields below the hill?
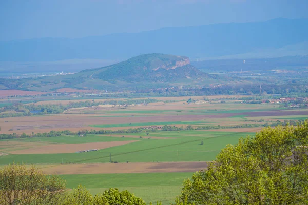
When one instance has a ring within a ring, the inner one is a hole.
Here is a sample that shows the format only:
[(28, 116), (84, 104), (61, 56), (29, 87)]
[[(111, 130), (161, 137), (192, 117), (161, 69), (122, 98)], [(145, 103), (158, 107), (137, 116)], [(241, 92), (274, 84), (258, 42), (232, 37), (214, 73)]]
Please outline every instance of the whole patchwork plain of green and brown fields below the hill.
[[(116, 187), (133, 192), (147, 203), (158, 200), (168, 204), (180, 194), (183, 180), (206, 169), (208, 161), (214, 160), (226, 145), (236, 144), (247, 135), (254, 136), (264, 123), (308, 116), (308, 109), (279, 108), (277, 104), (241, 104), (239, 100), (220, 103), (221, 99), (187, 104), (187, 97), (155, 99), (166, 101), (0, 118), (0, 134), (29, 136), (0, 140), (0, 169), (12, 162), (34, 163), (47, 174), (60, 174), (67, 180), (68, 188), (82, 183), (95, 194)], [(67, 100), (37, 102), (39, 105), (68, 103)], [(163, 126), (170, 130), (158, 128)], [(172, 130), (176, 128), (181, 129)], [(129, 129), (137, 131), (127, 133)], [(89, 133), (31, 137), (65, 130)], [(104, 132), (90, 134), (91, 130)], [(92, 149), (98, 150), (76, 153)]]

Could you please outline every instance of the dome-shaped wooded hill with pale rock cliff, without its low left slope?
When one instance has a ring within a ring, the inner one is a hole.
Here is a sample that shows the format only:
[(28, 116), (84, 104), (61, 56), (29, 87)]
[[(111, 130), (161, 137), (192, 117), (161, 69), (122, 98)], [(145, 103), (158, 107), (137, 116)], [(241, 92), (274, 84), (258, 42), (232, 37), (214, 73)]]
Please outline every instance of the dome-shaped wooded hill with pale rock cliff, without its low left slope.
[(145, 54), (103, 68), (84, 70), (92, 79), (152, 81), (168, 83), (179, 79), (206, 79), (207, 75), (190, 65), (188, 57), (166, 54)]

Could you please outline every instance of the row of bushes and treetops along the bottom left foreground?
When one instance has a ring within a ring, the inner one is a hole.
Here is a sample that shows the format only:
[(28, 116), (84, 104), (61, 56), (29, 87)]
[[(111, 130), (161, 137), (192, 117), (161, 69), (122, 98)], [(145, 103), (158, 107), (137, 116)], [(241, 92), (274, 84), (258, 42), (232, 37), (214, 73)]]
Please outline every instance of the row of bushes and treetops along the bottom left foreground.
[(145, 205), (127, 190), (109, 189), (93, 196), (81, 185), (65, 192), (65, 180), (32, 166), (11, 164), (0, 170), (0, 204), (8, 205)]

